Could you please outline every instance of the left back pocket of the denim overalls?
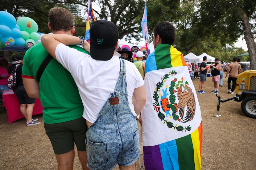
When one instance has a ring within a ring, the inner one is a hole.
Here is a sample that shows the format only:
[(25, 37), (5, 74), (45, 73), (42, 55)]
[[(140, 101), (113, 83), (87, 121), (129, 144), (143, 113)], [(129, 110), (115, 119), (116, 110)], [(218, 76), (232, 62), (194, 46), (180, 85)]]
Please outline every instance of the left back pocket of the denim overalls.
[(107, 162), (107, 146), (106, 142), (94, 143), (88, 140), (87, 150), (89, 160), (92, 164), (105, 164)]

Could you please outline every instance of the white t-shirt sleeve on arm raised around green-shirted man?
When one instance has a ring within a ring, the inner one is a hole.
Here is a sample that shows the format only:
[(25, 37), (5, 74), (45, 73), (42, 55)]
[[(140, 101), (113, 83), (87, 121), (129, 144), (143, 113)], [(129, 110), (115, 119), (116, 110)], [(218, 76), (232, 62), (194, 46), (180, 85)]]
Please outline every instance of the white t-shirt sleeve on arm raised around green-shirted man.
[(80, 63), (88, 54), (80, 52), (74, 48), (70, 48), (64, 44), (58, 44), (55, 51), (56, 59), (69, 72), (77, 68), (77, 63)]

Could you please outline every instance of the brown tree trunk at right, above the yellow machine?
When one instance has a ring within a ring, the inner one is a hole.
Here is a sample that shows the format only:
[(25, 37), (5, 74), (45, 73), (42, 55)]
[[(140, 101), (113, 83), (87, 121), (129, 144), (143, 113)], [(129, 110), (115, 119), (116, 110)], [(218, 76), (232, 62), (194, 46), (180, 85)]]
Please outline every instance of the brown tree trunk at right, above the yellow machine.
[(250, 70), (256, 70), (256, 47), (251, 30), (251, 25), (249, 23), (246, 13), (243, 14), (241, 19), (245, 30), (245, 41), (250, 56)]

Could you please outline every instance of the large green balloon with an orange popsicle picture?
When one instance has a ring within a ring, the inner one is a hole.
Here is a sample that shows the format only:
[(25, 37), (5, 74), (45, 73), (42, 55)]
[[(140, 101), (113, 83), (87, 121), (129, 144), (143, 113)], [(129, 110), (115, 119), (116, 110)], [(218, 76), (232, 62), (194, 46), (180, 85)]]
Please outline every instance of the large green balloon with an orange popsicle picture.
[(17, 25), (19, 25), (21, 31), (27, 31), (28, 33), (33, 33), (38, 31), (37, 23), (30, 17), (18, 18)]

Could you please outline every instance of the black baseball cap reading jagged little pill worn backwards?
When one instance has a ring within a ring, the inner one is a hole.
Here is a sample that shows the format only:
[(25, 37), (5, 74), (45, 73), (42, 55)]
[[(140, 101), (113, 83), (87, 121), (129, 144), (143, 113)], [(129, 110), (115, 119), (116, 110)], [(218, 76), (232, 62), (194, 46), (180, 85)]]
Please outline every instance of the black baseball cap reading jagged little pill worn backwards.
[(119, 33), (110, 21), (94, 21), (90, 28), (90, 55), (95, 60), (110, 60), (115, 51)]

